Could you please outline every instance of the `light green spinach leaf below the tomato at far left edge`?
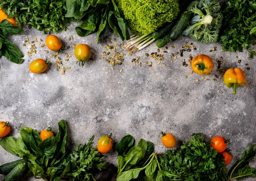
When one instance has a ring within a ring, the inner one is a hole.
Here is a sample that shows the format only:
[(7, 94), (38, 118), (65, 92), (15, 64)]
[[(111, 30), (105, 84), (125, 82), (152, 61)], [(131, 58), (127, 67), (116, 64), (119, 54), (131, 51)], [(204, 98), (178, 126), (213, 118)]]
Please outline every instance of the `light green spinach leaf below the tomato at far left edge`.
[(12, 155), (19, 156), (17, 154), (17, 148), (16, 148), (16, 138), (9, 136), (4, 137), (0, 140), (0, 145), (5, 149), (7, 152), (11, 153)]

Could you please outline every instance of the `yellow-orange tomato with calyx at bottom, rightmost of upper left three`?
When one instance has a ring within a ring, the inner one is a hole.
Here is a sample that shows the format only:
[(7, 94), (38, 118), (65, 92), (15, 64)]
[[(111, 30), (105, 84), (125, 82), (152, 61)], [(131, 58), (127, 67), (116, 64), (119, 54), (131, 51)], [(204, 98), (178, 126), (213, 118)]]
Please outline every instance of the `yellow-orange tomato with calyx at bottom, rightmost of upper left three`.
[(79, 44), (75, 48), (75, 57), (78, 60), (76, 63), (79, 63), (79, 66), (84, 66), (84, 61), (87, 61), (92, 56), (92, 51), (90, 46), (86, 44)]

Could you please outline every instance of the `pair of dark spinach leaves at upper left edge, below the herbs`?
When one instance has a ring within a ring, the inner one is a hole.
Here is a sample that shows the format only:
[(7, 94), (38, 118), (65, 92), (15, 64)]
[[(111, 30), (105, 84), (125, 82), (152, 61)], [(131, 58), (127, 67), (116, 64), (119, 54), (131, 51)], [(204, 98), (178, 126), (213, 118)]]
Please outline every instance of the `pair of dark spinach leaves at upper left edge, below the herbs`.
[(4, 35), (22, 34), (21, 26), (12, 26), (8, 20), (3, 20), (0, 23), (0, 55), (6, 57), (13, 63), (20, 64), (23, 62), (23, 55), (20, 50), (9, 41)]

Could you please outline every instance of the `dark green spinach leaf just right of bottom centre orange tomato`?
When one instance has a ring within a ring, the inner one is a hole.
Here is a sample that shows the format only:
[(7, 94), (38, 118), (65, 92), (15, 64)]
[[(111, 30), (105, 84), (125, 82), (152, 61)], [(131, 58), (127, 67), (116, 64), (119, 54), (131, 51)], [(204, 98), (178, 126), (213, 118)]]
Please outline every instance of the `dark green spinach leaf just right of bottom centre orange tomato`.
[(118, 155), (125, 155), (133, 146), (134, 138), (131, 135), (126, 135), (118, 144), (116, 144), (116, 151), (118, 152)]

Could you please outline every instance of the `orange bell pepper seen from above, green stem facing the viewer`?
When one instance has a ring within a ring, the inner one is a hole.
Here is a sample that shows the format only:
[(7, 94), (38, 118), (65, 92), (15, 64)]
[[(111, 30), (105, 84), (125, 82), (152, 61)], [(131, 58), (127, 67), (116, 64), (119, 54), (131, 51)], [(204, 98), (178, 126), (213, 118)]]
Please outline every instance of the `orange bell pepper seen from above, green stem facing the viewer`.
[(213, 69), (213, 61), (209, 56), (200, 54), (193, 58), (191, 66), (195, 73), (207, 75)]

